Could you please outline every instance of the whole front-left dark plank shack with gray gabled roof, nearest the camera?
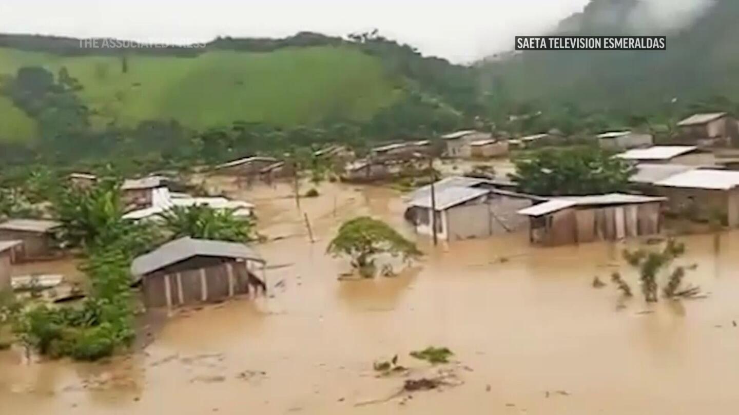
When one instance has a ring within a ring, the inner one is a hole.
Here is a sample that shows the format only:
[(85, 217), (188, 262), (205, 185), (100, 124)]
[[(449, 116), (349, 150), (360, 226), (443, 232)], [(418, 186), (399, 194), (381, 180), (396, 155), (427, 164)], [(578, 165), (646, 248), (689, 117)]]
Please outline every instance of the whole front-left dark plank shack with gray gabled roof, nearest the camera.
[(131, 272), (140, 278), (147, 308), (171, 309), (266, 293), (265, 264), (245, 244), (185, 237), (134, 259)]

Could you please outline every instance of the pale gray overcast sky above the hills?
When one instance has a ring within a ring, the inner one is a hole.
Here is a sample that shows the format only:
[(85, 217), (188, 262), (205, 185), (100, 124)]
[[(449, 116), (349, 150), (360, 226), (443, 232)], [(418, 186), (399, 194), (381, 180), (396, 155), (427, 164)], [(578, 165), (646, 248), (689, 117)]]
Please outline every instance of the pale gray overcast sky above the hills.
[(426, 55), (469, 62), (511, 49), (588, 0), (0, 0), (0, 32), (189, 43), (217, 35), (346, 35), (378, 28)]

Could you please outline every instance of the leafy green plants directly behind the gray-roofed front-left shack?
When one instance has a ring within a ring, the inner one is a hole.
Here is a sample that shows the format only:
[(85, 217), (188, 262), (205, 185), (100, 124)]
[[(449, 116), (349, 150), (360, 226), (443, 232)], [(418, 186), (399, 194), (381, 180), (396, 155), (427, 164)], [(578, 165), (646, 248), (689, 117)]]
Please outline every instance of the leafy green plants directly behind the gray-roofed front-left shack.
[(214, 209), (208, 205), (175, 206), (160, 213), (160, 217), (171, 239), (183, 236), (234, 242), (257, 239), (253, 219), (239, 218), (234, 210)]

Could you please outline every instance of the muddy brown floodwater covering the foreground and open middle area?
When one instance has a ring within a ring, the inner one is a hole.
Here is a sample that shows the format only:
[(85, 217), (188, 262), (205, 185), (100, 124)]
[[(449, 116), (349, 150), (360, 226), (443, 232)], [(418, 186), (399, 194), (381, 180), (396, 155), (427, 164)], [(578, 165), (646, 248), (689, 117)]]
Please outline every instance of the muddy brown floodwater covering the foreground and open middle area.
[[(639, 296), (621, 308), (611, 284), (591, 286), (623, 265), (621, 244), (420, 241), (426, 258), (398, 277), (338, 281), (347, 263), (324, 250), (341, 220), (372, 214), (409, 230), (393, 191), (319, 190), (301, 202), (314, 244), (289, 188), (232, 193), (256, 201), (264, 233), (285, 236), (258, 247), (282, 265), (268, 272), (273, 297), (183, 313), (144, 351), (105, 363), (0, 352), (0, 413), (735, 413), (739, 233), (682, 239), (698, 264), (687, 280), (711, 295), (644, 314)], [(408, 352), (429, 345), (454, 351), (462, 385), (355, 406), (403, 385), (375, 377), (373, 361), (422, 366)]]

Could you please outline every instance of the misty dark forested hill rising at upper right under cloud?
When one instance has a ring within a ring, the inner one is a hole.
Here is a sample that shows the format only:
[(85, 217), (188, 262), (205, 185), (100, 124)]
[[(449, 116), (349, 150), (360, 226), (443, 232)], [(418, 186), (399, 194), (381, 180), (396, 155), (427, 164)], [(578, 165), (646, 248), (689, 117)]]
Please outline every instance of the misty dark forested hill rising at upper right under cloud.
[[(695, 0), (692, 16), (659, 14), (650, 0), (590, 0), (557, 34), (667, 35), (667, 51), (531, 51), (483, 66), (502, 109), (568, 108), (629, 117), (739, 110), (739, 1)], [(687, 4), (678, 1), (675, 4)], [(670, 2), (661, 1), (661, 4)], [(554, 111), (554, 110), (553, 110)]]

